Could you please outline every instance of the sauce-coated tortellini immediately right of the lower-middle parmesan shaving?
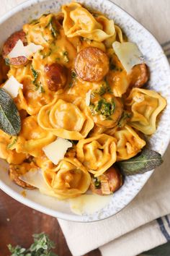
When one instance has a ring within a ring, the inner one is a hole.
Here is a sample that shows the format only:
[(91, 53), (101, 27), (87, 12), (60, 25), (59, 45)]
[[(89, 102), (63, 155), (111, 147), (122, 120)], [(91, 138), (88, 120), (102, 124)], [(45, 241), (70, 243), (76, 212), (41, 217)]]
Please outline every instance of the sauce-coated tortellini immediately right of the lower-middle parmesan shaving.
[(91, 174), (102, 175), (116, 161), (116, 140), (104, 134), (80, 140), (76, 155)]

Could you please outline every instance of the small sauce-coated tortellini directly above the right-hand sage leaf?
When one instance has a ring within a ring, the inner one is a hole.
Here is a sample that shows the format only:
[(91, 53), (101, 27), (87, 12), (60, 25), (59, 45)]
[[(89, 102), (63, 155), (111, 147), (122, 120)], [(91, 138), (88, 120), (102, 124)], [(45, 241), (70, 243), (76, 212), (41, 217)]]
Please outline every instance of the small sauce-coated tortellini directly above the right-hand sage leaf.
[(113, 136), (117, 140), (117, 161), (133, 158), (146, 145), (145, 140), (128, 125), (117, 129)]

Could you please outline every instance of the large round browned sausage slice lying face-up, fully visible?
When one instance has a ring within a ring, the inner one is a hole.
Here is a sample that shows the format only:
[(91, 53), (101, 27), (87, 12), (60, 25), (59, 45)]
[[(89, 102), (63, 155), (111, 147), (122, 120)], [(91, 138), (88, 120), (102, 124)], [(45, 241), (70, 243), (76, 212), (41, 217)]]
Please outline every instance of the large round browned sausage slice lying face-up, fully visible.
[(76, 56), (75, 69), (82, 80), (97, 82), (109, 72), (109, 59), (99, 48), (87, 47)]

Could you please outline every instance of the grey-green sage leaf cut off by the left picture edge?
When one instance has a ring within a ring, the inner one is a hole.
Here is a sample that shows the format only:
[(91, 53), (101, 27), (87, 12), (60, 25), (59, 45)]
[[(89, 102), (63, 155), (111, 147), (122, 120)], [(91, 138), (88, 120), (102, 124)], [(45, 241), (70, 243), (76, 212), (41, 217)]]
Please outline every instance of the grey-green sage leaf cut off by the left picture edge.
[(17, 136), (21, 130), (21, 119), (9, 93), (0, 88), (0, 129), (8, 135)]

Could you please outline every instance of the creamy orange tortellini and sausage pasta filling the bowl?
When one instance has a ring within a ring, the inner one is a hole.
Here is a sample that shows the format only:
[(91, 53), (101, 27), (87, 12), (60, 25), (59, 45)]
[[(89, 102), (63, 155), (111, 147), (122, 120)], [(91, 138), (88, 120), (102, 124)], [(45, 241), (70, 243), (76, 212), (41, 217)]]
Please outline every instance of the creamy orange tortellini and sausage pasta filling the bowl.
[(6, 40), (1, 88), (9, 77), (22, 85), (13, 98), (21, 129), (17, 136), (0, 130), (0, 157), (16, 184), (35, 189), (23, 177), (39, 171), (44, 187), (37, 188), (59, 200), (88, 189), (99, 195), (120, 189), (116, 163), (140, 153), (142, 134), (156, 131), (166, 107), (160, 94), (143, 89), (149, 68), (135, 44), (123, 54), (125, 42), (114, 20), (76, 2), (42, 14)]

